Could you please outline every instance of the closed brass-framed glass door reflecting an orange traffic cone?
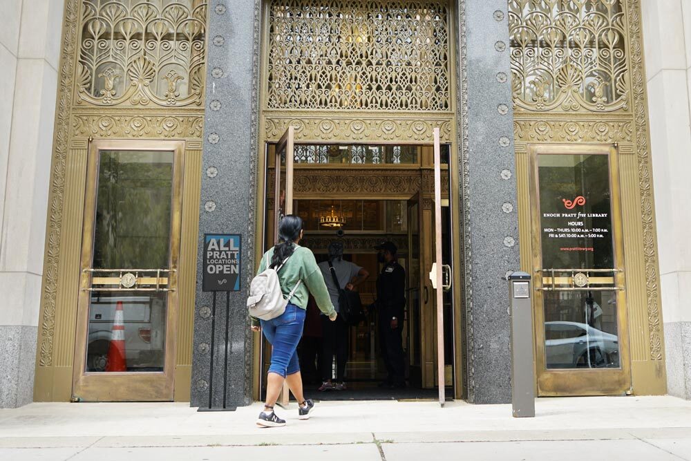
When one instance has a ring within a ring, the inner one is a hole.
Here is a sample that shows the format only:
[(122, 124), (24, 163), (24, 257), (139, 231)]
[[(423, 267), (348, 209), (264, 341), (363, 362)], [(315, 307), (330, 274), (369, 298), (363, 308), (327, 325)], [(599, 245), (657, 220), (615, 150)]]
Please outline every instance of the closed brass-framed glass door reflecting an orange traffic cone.
[(91, 142), (73, 397), (173, 399), (181, 141)]

